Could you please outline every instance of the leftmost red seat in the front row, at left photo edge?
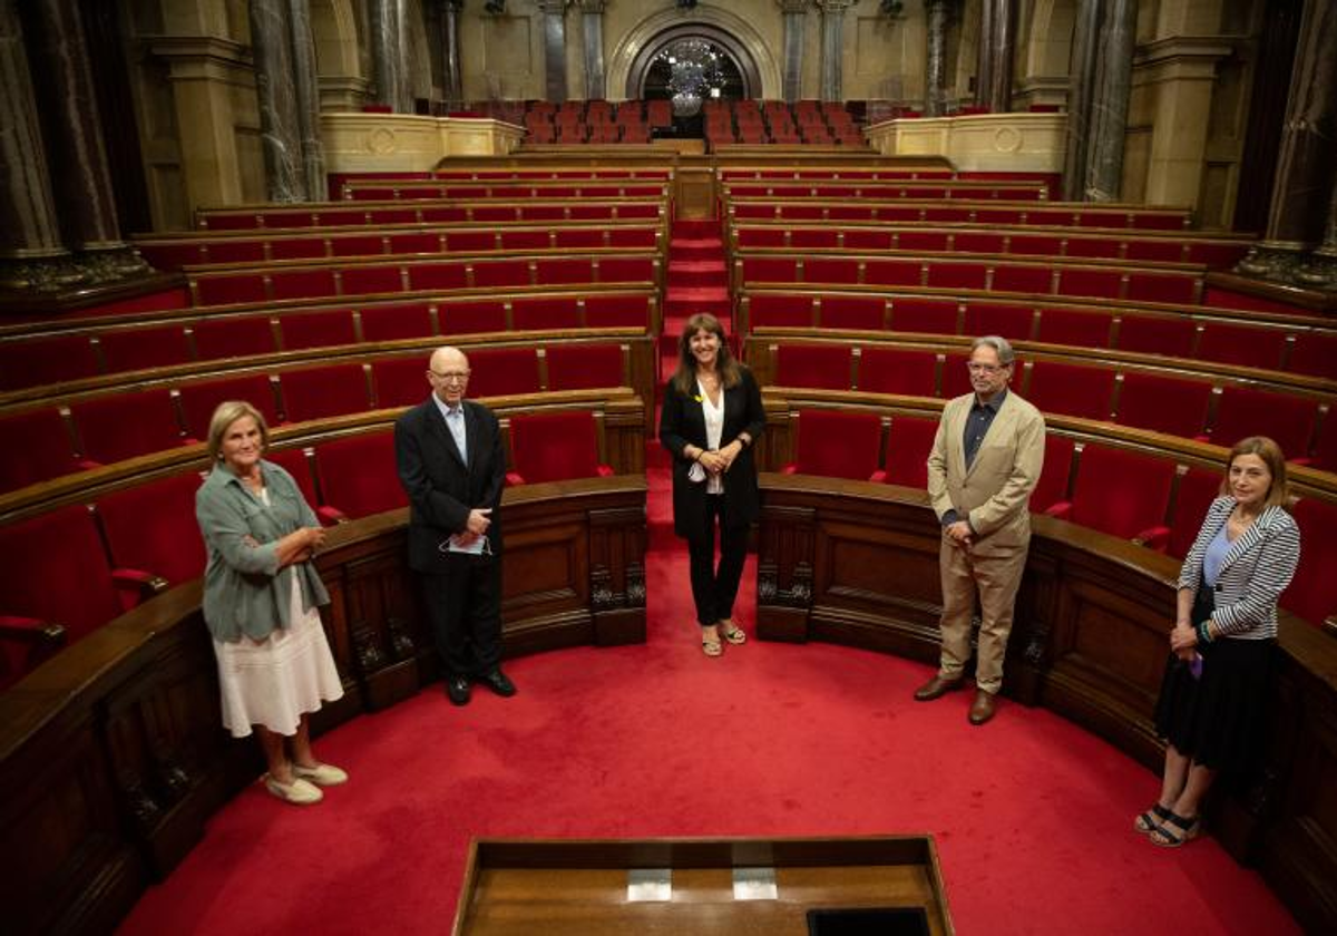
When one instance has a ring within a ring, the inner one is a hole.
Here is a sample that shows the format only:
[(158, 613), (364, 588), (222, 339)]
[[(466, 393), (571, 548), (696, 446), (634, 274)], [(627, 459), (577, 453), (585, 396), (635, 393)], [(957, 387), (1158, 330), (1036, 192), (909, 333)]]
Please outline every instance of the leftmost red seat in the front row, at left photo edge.
[[(0, 555), (5, 558), (0, 563), (3, 623), (60, 624), (64, 643), (71, 645), (122, 612), (111, 564), (83, 504), (0, 527)], [(55, 556), (60, 562), (52, 562)], [(71, 587), (71, 570), (78, 570), (78, 587)]]

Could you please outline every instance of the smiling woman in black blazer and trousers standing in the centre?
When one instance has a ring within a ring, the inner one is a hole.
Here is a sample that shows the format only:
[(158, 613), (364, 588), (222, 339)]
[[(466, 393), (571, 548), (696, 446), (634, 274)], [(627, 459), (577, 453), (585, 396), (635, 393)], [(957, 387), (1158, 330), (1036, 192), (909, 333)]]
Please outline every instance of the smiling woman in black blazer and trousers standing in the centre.
[(687, 540), (691, 596), (707, 657), (723, 653), (721, 638), (734, 645), (747, 639), (733, 614), (747, 530), (759, 509), (753, 445), (765, 425), (757, 381), (729, 352), (719, 320), (705, 313), (689, 318), (678, 341), (678, 369), (664, 388), (659, 441), (674, 456), (674, 532)]

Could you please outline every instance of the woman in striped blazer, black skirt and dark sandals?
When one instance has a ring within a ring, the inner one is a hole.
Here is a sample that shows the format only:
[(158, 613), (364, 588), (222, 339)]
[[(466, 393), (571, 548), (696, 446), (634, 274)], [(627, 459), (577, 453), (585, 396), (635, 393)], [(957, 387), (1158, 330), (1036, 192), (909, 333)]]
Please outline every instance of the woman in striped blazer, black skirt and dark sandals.
[(1226, 465), (1221, 496), (1179, 572), (1157, 701), (1157, 730), (1167, 742), (1161, 798), (1134, 820), (1138, 832), (1169, 848), (1198, 834), (1199, 806), (1217, 774), (1239, 773), (1255, 758), (1277, 599), (1300, 562), (1277, 443), (1250, 436), (1230, 449)]

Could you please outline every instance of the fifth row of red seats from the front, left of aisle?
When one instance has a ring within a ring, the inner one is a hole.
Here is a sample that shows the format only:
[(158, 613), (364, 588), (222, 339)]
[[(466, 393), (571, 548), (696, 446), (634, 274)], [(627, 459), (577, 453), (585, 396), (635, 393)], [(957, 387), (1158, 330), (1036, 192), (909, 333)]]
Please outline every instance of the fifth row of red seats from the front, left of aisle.
[(267, 263), (283, 259), (344, 259), (377, 255), (420, 255), (519, 250), (655, 250), (662, 253), (658, 223), (599, 226), (547, 225), (488, 227), (364, 229), (337, 231), (237, 231), (136, 237), (140, 255), (159, 270), (215, 263)]

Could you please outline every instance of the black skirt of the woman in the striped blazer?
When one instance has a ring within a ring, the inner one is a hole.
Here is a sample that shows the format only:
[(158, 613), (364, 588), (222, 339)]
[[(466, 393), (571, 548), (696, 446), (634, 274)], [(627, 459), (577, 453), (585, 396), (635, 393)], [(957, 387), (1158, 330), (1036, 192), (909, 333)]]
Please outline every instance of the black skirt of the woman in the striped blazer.
[(1205, 768), (1247, 777), (1262, 757), (1275, 640), (1219, 638), (1199, 646), (1195, 677), (1174, 654), (1157, 699), (1157, 731)]

